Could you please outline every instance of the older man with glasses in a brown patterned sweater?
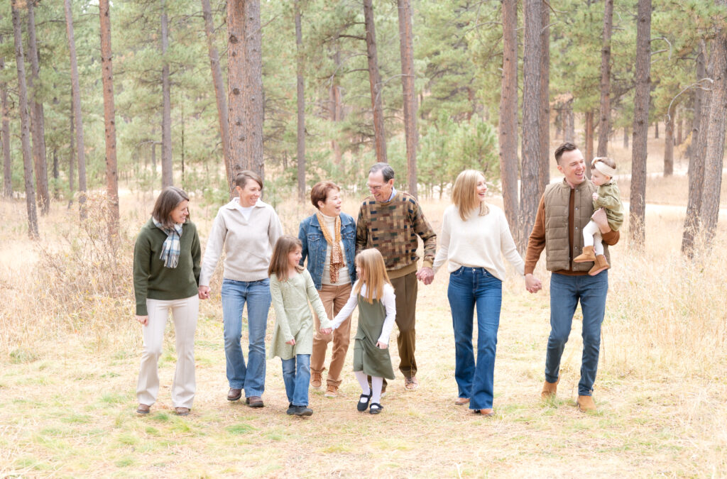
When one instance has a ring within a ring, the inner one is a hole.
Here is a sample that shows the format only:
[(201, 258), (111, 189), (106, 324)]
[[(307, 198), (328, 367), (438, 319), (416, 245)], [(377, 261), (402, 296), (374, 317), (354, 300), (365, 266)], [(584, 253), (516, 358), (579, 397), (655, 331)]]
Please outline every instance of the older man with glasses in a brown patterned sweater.
[[(417, 279), (432, 282), (432, 264), (437, 235), (422, 213), (417, 199), (394, 188), (394, 170), (387, 163), (377, 163), (369, 170), (371, 196), (364, 199), (356, 222), (356, 254), (366, 248), (378, 249), (396, 294), (396, 325), (399, 334), (399, 371), (404, 387), (415, 390), (417, 382), (416, 307)], [(424, 264), (417, 271), (417, 236), (424, 241)]]

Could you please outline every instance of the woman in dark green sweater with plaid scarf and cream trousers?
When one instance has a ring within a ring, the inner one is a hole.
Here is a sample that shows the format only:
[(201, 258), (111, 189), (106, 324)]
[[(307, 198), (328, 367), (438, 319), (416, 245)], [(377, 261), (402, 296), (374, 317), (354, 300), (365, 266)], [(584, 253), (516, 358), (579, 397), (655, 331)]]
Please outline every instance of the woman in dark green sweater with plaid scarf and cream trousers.
[(158, 360), (169, 310), (177, 339), (177, 370), (172, 404), (177, 414), (189, 414), (194, 400), (194, 332), (199, 311), (201, 249), (197, 228), (189, 217), (189, 197), (168, 186), (161, 191), (150, 220), (134, 245), (136, 318), (142, 325), (137, 413), (148, 414), (159, 392)]

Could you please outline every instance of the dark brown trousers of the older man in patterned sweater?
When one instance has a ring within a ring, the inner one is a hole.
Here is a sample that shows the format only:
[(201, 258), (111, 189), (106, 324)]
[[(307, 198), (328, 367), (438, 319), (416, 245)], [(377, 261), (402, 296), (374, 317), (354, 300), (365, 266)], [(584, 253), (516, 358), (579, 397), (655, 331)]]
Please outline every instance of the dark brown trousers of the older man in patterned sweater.
[(414, 350), (417, 349), (417, 273), (416, 271), (401, 278), (391, 280), (396, 295), (396, 326), (399, 335), (396, 344), (399, 348), (399, 371), (404, 376), (417, 375), (417, 360)]

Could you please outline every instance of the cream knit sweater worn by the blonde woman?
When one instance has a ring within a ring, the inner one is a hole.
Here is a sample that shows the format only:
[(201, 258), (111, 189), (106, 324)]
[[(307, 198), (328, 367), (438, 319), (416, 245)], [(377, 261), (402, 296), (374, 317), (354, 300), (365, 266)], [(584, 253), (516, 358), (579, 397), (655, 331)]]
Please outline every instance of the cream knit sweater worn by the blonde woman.
[(502, 262), (502, 256), (505, 256), (518, 273), (524, 273), (525, 262), (515, 247), (505, 213), (497, 206), (488, 206), (488, 214), (474, 214), (467, 221), (462, 221), (454, 205), (444, 210), (441, 239), (433, 265), (434, 273), (446, 260), (449, 261), (449, 273), (462, 266), (483, 267), (491, 275), (504, 281), (505, 263)]

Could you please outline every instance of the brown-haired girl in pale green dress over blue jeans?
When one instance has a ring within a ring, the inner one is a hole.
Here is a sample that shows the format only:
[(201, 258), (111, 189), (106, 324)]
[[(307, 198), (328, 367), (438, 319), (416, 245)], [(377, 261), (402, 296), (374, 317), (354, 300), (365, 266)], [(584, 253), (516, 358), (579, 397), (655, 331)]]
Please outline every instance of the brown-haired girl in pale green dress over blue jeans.
[(281, 236), (273, 249), (268, 274), (270, 295), (276, 314), (270, 357), (283, 361), (283, 382), (288, 395), (287, 414), (310, 416), (308, 382), (310, 382), (310, 353), (313, 352), (313, 315), (308, 301), (316, 309), (321, 332), (330, 334), (331, 321), (318, 297), (313, 278), (300, 265), (302, 243), (294, 236)]

